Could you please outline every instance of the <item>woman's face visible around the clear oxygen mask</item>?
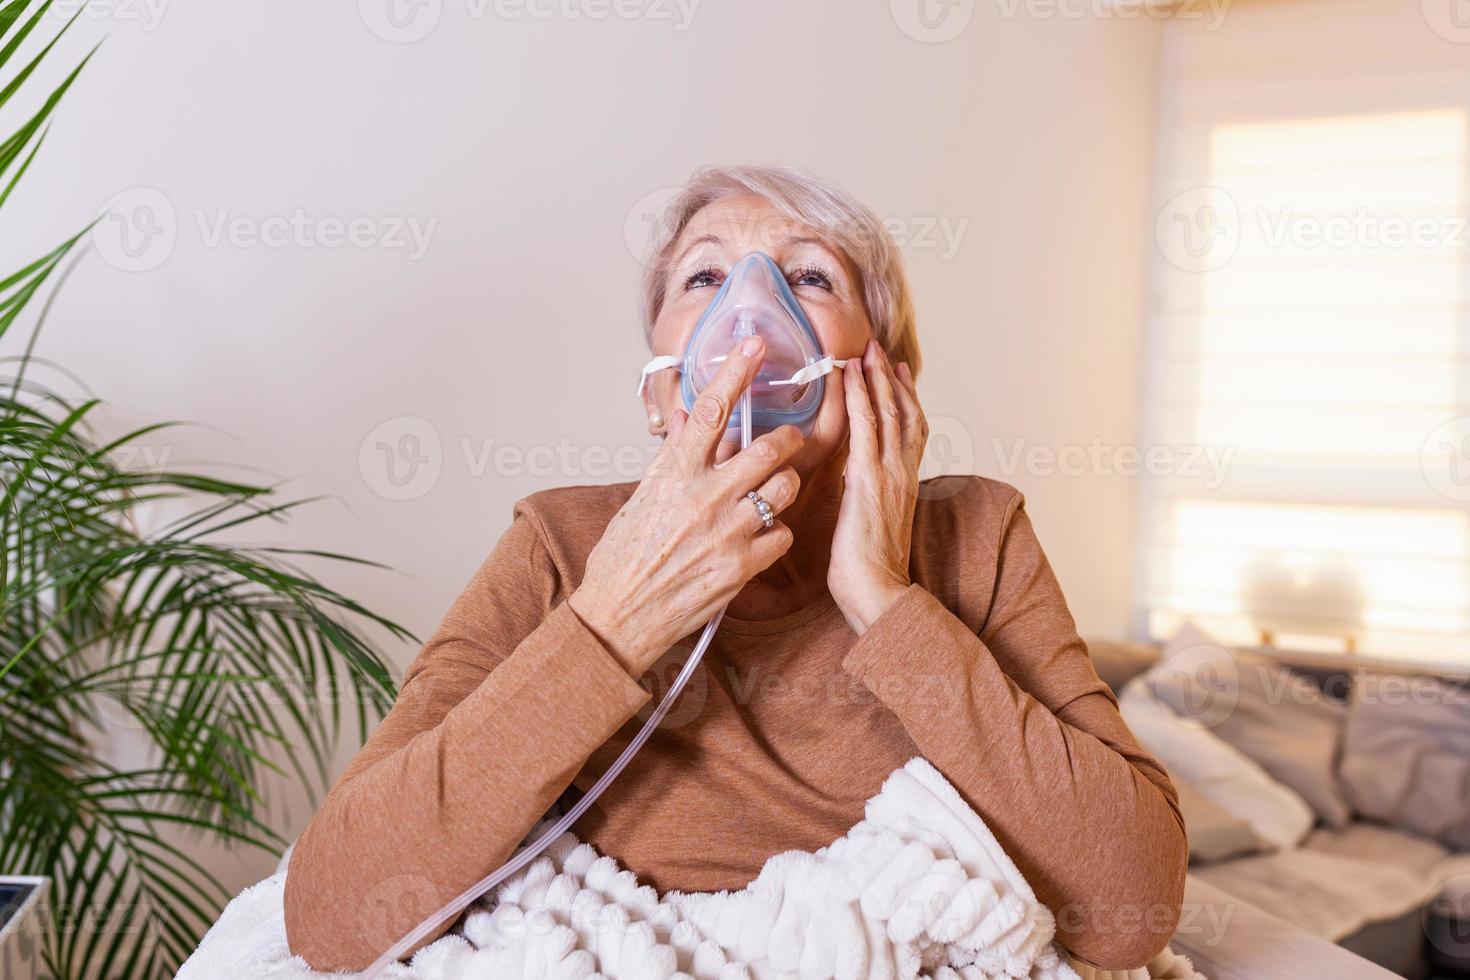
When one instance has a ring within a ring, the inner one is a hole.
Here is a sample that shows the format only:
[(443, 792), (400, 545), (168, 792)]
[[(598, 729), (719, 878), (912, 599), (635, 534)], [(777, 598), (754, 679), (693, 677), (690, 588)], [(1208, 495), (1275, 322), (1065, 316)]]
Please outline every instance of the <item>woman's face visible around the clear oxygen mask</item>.
[[(670, 260), (663, 310), (653, 326), (656, 354), (684, 353), (695, 322), (719, 292), (726, 273), (753, 251), (763, 251), (775, 259), (785, 273), (791, 292), (817, 332), (823, 353), (836, 359), (863, 356), (873, 328), (867, 320), (858, 278), (847, 256), (754, 194), (725, 197), (709, 204), (679, 235)], [(644, 400), (648, 403), (645, 408), (650, 417), (657, 414), (664, 420), (663, 426), (650, 423), (648, 430), (662, 435), (673, 411), (684, 408), (679, 372), (654, 375)], [(845, 439), (842, 375), (833, 372), (828, 375), (822, 407), (806, 445), (791, 464), (806, 476), (831, 460)], [(738, 444), (726, 439), (720, 445), (719, 458), (728, 458), (738, 448)]]

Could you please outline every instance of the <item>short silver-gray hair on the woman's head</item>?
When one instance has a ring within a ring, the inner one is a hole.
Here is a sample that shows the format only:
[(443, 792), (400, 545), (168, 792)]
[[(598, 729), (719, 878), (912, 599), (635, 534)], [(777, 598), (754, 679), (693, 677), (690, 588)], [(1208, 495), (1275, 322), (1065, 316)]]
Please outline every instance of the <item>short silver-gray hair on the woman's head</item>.
[(794, 222), (829, 238), (857, 267), (873, 336), (894, 363), (919, 375), (919, 335), (908, 276), (892, 237), (861, 201), (806, 170), (786, 166), (707, 166), (694, 172), (669, 203), (654, 232), (642, 278), (644, 336), (663, 310), (679, 235), (706, 206), (723, 197), (756, 194)]

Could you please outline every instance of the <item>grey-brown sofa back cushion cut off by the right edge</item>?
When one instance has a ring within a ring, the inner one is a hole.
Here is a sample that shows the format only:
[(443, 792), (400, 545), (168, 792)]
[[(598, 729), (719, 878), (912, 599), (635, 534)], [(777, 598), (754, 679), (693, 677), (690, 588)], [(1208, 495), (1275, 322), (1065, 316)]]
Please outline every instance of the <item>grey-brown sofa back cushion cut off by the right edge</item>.
[(1470, 689), (1357, 677), (1338, 771), (1364, 817), (1470, 849)]

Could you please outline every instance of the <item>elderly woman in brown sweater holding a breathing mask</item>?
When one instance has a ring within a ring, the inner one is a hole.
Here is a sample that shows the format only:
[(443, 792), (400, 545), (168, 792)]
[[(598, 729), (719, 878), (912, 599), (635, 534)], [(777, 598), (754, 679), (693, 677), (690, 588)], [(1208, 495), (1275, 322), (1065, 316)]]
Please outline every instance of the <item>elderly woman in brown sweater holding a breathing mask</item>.
[(663, 447), (639, 483), (520, 501), (295, 846), (287, 929), (315, 967), (365, 967), (506, 861), (637, 732), (639, 679), (726, 604), (703, 676), (584, 840), (660, 890), (738, 889), (845, 833), (923, 755), (1075, 955), (1132, 968), (1166, 945), (1186, 864), (1175, 789), (1092, 670), (1020, 494), (920, 483), (914, 316), (873, 215), (800, 172), (701, 170), (645, 275), (650, 347), (684, 351), (750, 253), (845, 360), (806, 436), (726, 436), (769, 353), (756, 335), (688, 413), (679, 372), (650, 375)]

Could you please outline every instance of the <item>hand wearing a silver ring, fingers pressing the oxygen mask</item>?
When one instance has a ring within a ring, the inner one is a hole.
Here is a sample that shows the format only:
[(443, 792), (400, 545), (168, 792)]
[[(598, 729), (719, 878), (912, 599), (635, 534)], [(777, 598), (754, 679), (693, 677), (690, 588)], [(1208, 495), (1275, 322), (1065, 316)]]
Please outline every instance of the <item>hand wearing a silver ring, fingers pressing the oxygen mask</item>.
[(634, 677), (791, 547), (791, 529), (779, 520), (767, 529), (745, 494), (759, 492), (773, 513), (795, 500), (801, 480), (786, 460), (801, 448), (801, 432), (781, 426), (714, 463), (731, 411), (764, 351), (759, 336), (747, 339), (695, 398), (692, 413), (673, 413), (663, 448), (609, 522), (567, 598)]

